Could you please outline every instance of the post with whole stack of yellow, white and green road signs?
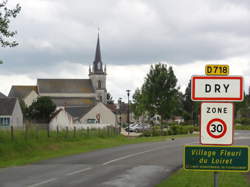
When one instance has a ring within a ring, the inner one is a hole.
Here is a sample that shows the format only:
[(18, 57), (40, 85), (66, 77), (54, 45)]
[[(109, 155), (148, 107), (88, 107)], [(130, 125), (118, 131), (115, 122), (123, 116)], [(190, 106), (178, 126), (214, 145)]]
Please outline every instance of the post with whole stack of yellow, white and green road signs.
[(244, 86), (242, 76), (227, 76), (228, 65), (206, 65), (205, 73), (207, 76), (192, 76), (191, 79), (191, 99), (203, 101), (200, 105), (202, 146), (185, 147), (183, 167), (214, 171), (216, 187), (218, 171), (249, 170), (248, 147), (228, 146), (233, 144), (234, 128), (234, 105), (229, 102), (243, 101)]

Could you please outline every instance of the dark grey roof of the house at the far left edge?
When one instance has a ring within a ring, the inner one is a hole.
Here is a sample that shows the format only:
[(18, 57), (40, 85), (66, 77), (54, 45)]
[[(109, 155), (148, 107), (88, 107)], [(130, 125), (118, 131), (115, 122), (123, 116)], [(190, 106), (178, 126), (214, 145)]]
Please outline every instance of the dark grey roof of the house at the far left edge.
[(17, 98), (0, 98), (0, 115), (11, 116), (17, 102)]

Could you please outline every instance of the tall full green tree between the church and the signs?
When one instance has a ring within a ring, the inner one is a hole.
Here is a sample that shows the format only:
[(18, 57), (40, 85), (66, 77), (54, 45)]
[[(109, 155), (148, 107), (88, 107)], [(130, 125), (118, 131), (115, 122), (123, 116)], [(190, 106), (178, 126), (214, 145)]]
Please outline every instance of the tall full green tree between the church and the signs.
[(142, 86), (145, 109), (154, 116), (158, 114), (163, 119), (171, 118), (178, 110), (179, 88), (172, 67), (165, 64), (151, 66)]

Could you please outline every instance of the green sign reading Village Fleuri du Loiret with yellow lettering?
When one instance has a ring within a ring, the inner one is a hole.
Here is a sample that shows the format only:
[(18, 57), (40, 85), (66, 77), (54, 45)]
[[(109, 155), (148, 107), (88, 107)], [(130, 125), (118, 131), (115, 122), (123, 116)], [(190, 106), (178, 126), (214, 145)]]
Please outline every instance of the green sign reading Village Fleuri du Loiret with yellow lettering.
[(248, 146), (185, 146), (183, 167), (203, 171), (249, 171)]

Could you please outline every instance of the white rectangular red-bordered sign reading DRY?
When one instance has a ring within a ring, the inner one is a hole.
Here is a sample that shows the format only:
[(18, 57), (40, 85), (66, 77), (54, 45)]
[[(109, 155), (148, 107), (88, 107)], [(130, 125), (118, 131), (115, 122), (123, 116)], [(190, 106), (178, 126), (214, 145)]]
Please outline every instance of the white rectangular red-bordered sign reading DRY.
[(193, 101), (243, 101), (241, 76), (193, 76), (191, 82)]

